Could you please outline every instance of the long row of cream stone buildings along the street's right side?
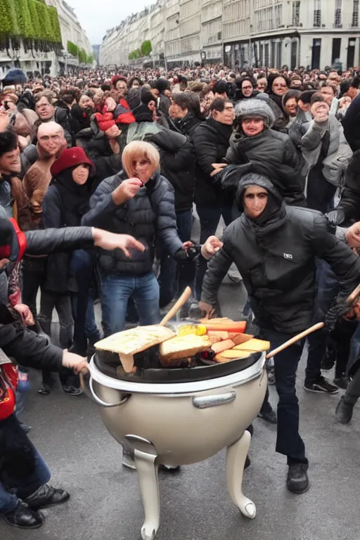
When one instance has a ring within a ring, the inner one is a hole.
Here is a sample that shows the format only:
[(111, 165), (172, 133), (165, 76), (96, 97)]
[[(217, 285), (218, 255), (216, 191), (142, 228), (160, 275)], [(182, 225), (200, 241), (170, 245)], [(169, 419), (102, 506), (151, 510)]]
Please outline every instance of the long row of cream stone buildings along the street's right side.
[(359, 0), (158, 0), (120, 26), (103, 39), (102, 65), (129, 65), (129, 51), (118, 58), (130, 34), (130, 50), (154, 40), (153, 60), (168, 68), (202, 61), (232, 68), (360, 65)]

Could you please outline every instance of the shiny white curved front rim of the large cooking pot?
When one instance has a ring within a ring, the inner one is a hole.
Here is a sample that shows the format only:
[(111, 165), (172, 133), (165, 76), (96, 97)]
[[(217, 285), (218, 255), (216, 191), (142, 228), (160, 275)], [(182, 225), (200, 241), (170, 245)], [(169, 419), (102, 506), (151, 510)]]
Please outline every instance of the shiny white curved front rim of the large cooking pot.
[(95, 365), (94, 356), (91, 357), (89, 362), (89, 369), (91, 377), (94, 378), (96, 383), (103, 385), (113, 390), (119, 390), (127, 394), (158, 394), (162, 397), (176, 397), (187, 396), (194, 394), (195, 392), (206, 392), (207, 390), (216, 390), (221, 387), (237, 387), (249, 383), (251, 380), (259, 378), (262, 375), (264, 365), (266, 362), (266, 353), (263, 352), (259, 360), (249, 366), (243, 371), (237, 371), (231, 373), (231, 375), (224, 375), (224, 377), (218, 377), (207, 380), (197, 380), (191, 383), (131, 383), (128, 380), (115, 379), (102, 373)]

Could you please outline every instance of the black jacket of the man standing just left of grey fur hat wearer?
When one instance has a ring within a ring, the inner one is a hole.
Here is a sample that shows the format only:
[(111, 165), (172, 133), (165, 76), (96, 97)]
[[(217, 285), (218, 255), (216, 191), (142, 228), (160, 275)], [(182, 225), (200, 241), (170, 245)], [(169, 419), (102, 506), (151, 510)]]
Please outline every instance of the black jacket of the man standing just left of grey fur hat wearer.
[(214, 186), (210, 174), (214, 170), (212, 163), (221, 163), (225, 158), (231, 132), (231, 126), (212, 118), (205, 120), (193, 131), (196, 154), (195, 203), (200, 208), (219, 207), (222, 202), (221, 190)]

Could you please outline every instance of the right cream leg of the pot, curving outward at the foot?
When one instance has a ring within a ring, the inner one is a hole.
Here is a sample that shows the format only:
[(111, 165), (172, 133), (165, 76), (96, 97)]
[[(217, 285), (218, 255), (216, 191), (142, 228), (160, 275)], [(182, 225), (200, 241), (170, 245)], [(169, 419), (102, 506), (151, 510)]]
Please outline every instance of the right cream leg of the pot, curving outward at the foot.
[(255, 504), (243, 494), (243, 473), (246, 456), (250, 448), (251, 435), (243, 433), (238, 441), (228, 447), (226, 455), (226, 482), (233, 503), (238, 506), (245, 518), (253, 520), (256, 515)]

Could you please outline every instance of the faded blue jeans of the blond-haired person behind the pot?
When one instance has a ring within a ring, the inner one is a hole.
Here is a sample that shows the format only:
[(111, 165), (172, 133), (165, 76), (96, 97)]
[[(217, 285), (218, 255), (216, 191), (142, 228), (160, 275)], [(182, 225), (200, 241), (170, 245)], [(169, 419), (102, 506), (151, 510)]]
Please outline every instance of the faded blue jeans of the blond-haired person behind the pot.
[(105, 336), (124, 330), (129, 298), (136, 303), (142, 326), (160, 322), (159, 284), (153, 272), (145, 276), (120, 276), (103, 271), (99, 274)]

